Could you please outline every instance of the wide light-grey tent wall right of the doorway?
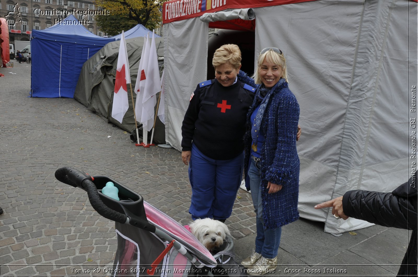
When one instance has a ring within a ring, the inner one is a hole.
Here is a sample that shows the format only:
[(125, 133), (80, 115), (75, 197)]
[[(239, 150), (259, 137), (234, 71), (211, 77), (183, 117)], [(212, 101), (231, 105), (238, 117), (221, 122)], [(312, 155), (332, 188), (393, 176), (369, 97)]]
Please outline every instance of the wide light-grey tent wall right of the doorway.
[(406, 90), (417, 56), (405, 26), (416, 5), (312, 1), (255, 13), (255, 52), (283, 50), (301, 105), (301, 217), (325, 221), (324, 231), (336, 235), (370, 226), (313, 207), (351, 189), (392, 191), (408, 179)]

